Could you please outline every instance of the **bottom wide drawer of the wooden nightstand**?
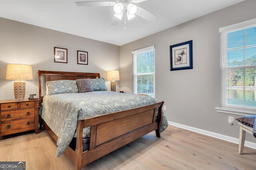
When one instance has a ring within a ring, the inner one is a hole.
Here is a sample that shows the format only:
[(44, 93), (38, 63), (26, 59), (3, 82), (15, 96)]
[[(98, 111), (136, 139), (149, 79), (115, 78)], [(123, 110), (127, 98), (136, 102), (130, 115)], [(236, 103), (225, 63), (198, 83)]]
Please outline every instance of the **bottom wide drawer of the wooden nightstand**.
[(24, 129), (27, 127), (34, 127), (34, 126), (35, 126), (34, 118), (14, 120), (14, 121), (4, 121), (4, 122), (1, 122), (1, 132)]

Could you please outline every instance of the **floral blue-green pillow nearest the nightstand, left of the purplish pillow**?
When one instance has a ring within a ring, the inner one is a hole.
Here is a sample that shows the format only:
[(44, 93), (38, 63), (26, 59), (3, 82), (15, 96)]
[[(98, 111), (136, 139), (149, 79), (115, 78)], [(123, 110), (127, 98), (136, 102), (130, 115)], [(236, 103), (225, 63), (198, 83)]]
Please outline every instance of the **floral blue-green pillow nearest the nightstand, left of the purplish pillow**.
[(76, 80), (55, 80), (46, 82), (49, 95), (60, 93), (78, 93)]

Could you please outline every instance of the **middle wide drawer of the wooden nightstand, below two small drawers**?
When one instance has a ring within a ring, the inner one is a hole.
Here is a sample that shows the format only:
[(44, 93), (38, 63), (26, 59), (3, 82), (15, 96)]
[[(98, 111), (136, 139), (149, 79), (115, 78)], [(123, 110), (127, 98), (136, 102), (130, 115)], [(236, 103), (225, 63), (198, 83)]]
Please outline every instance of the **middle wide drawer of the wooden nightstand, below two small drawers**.
[(22, 109), (12, 111), (2, 111), (1, 121), (9, 121), (15, 119), (30, 118), (35, 116), (35, 109)]

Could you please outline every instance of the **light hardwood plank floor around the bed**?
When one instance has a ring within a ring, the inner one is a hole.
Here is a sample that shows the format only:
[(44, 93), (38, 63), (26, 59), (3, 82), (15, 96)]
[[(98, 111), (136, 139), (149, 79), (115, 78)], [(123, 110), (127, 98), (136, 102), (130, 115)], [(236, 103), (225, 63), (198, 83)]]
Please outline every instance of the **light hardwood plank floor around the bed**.
[[(169, 126), (161, 138), (152, 132), (82, 167), (83, 170), (255, 170), (256, 150), (177, 127)], [(7, 138), (7, 139), (6, 139)], [(0, 141), (0, 161), (26, 161), (27, 170), (72, 170), (46, 131)]]

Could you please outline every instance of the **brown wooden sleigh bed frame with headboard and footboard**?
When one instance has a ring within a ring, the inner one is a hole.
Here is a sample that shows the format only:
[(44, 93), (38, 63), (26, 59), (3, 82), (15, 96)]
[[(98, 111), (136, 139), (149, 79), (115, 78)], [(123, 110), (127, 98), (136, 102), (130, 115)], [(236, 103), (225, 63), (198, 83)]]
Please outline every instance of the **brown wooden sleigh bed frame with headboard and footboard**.
[[(41, 76), (46, 76), (46, 81), (52, 80), (76, 80), (79, 78), (100, 78), (99, 73), (83, 72), (57, 72), (38, 70), (39, 100), (42, 106), (42, 84)], [(65, 150), (66, 156), (75, 165), (76, 170), (94, 160), (124, 146), (128, 143), (152, 132), (156, 131), (156, 136), (160, 137), (160, 124), (162, 121), (162, 106), (164, 102), (128, 109), (116, 113), (92, 117), (79, 120), (77, 126), (76, 150), (68, 147)], [(157, 114), (158, 109), (158, 114)], [(141, 121), (143, 120), (143, 121)], [(124, 125), (129, 123), (129, 126)], [(42, 125), (57, 142), (58, 137), (42, 120)], [(114, 126), (112, 133), (109, 127)], [(89, 150), (83, 152), (82, 131), (83, 128), (90, 127)]]

